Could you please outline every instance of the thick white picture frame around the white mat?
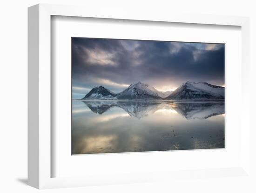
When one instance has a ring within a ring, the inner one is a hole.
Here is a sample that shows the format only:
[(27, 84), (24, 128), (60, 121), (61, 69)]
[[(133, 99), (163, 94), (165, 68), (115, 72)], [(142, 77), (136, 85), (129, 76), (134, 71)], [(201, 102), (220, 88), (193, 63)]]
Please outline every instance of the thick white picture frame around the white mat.
[[(165, 178), (189, 176), (188, 171), (148, 174), (130, 173), (108, 178), (107, 174), (85, 177), (51, 177), (51, 16), (72, 16), (105, 19), (129, 19), (155, 22), (178, 22), (203, 25), (240, 26), (242, 29), (242, 97), (241, 114), (242, 162), (240, 166), (196, 170), (194, 176), (216, 176), (230, 173), (236, 176), (249, 175), (249, 18), (216, 15), (178, 15), (174, 13), (154, 15), (130, 13), (124, 10), (102, 9), (95, 11), (83, 6), (38, 4), (28, 8), (28, 185), (36, 188), (79, 187), (100, 184), (150, 182)], [(246, 112), (246, 113), (245, 113)], [(149, 169), (150, 172), (150, 169)], [(225, 176), (225, 175), (224, 175)], [(191, 176), (190, 176), (191, 177)]]

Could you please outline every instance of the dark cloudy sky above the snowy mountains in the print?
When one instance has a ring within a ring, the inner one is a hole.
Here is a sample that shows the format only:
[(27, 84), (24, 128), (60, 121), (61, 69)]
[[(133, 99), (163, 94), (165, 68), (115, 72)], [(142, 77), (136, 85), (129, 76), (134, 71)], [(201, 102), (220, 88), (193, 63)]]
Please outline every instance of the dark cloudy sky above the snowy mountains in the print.
[(73, 98), (103, 85), (118, 93), (141, 81), (160, 91), (182, 83), (224, 85), (224, 45), (119, 39), (72, 39)]

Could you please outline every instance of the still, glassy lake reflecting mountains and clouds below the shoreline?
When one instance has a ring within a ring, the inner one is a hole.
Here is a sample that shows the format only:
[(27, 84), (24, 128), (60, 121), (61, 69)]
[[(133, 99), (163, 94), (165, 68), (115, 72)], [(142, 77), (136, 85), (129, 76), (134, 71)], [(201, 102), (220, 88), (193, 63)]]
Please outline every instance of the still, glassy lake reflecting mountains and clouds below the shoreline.
[(72, 103), (72, 154), (224, 148), (223, 101)]

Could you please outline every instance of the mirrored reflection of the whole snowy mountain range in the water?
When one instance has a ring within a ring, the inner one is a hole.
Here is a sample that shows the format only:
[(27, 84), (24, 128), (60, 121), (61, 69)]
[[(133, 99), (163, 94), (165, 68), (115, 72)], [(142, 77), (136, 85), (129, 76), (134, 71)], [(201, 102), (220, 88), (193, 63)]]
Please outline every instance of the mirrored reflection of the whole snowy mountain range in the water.
[(94, 113), (103, 114), (113, 107), (124, 109), (138, 119), (154, 114), (159, 109), (175, 110), (186, 119), (206, 119), (224, 114), (221, 102), (162, 102), (162, 101), (82, 101)]

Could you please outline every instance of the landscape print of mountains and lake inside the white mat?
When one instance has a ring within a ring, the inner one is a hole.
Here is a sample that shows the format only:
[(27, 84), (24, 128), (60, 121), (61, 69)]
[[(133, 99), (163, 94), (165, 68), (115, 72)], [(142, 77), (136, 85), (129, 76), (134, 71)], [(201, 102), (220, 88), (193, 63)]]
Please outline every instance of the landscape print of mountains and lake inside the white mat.
[(224, 148), (224, 44), (72, 38), (72, 154)]

